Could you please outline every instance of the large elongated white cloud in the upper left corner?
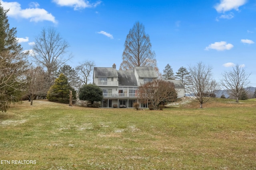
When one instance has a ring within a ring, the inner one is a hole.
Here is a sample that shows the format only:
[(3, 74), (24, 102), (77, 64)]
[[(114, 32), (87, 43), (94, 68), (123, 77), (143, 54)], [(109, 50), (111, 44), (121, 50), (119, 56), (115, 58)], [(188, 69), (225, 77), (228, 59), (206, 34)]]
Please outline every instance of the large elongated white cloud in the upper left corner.
[[(20, 4), (18, 2), (3, 2), (1, 1), (2, 6), (5, 10), (10, 9), (7, 13), (9, 17), (12, 18), (25, 18), (30, 19), (30, 21), (38, 22), (38, 21), (51, 21), (53, 23), (57, 23), (55, 17), (52, 16), (49, 12), (42, 8), (37, 8), (39, 6), (38, 3), (33, 3), (32, 5), (35, 8), (26, 8), (21, 9)], [(30, 4), (31, 6), (31, 4)]]

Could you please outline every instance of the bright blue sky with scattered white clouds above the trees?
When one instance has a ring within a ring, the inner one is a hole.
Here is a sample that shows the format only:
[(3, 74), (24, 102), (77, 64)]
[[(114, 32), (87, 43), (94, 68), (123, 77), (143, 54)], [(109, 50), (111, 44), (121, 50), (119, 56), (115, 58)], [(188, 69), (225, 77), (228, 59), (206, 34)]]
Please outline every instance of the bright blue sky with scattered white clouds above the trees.
[(218, 81), (239, 64), (256, 86), (256, 0), (0, 0), (24, 50), (43, 27), (53, 26), (69, 43), (72, 67), (122, 63), (124, 42), (136, 21), (150, 36), (157, 65), (174, 73), (209, 64)]

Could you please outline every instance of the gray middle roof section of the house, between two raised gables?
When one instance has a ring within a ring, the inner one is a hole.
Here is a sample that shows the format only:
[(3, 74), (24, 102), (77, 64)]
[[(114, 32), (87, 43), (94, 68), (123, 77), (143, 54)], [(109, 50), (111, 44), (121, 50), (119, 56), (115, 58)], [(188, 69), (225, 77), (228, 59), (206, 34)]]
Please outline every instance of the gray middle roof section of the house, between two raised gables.
[(137, 80), (133, 71), (118, 70), (119, 86), (137, 86)]

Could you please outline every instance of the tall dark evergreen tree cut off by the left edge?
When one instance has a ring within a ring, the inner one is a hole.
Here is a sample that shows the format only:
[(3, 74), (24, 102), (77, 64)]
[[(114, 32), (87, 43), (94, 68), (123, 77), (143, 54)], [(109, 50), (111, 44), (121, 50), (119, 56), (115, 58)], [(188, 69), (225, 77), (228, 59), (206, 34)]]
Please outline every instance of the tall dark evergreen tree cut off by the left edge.
[(16, 39), (16, 28), (10, 28), (7, 13), (0, 2), (0, 110), (6, 111), (18, 102), (25, 86), (26, 57)]

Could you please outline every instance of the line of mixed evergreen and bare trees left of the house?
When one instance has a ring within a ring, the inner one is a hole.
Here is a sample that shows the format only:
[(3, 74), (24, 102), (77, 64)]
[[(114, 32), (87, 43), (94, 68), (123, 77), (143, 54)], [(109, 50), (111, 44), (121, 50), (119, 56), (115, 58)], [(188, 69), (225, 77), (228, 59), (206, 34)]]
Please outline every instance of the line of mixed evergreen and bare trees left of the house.
[[(35, 37), (32, 53), (24, 52), (16, 37), (16, 27), (10, 28), (8, 23), (8, 11), (0, 3), (1, 111), (6, 111), (10, 104), (19, 102), (22, 96), (28, 98), (31, 105), (38, 96), (56, 100), (62, 94), (60, 99), (66, 100), (70, 98), (70, 94), (56, 91), (54, 85), (67, 83), (66, 87), (74, 91), (88, 83), (94, 62), (84, 61), (76, 68), (66, 65), (72, 59), (72, 54), (68, 52), (67, 41), (54, 27), (43, 28)], [(51, 92), (52, 95), (49, 95)]]

